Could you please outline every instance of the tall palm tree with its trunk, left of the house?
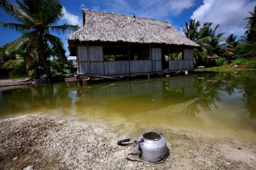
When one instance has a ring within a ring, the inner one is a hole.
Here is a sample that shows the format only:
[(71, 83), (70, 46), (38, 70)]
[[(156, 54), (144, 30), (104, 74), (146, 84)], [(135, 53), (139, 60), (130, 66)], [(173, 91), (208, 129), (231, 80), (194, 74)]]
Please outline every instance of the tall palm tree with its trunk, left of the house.
[(56, 0), (16, 0), (18, 7), (0, 0), (0, 8), (10, 14), (18, 23), (0, 22), (4, 28), (10, 28), (22, 32), (15, 41), (7, 46), (2, 54), (10, 55), (11, 52), (24, 48), (36, 52), (39, 62), (43, 67), (47, 77), (51, 79), (51, 70), (49, 66), (49, 47), (58, 53), (58, 57), (66, 60), (65, 49), (60, 38), (51, 34), (53, 31), (57, 34), (72, 33), (78, 29), (78, 25), (64, 24), (54, 26), (60, 17), (63, 16), (62, 6)]

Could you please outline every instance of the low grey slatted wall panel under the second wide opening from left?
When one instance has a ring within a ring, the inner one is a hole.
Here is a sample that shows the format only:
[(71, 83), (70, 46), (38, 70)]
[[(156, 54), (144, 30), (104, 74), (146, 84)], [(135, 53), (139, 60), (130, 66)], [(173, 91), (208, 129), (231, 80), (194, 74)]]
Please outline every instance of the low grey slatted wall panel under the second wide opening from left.
[(143, 73), (152, 71), (151, 60), (131, 61), (131, 73)]

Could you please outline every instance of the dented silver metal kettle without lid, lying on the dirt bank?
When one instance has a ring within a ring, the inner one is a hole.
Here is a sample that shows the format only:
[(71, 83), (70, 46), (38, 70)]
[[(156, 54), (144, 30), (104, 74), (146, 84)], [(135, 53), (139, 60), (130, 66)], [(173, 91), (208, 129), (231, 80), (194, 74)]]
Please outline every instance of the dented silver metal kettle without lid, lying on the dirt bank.
[(161, 133), (146, 132), (139, 137), (138, 141), (124, 143), (129, 141), (131, 141), (131, 139), (125, 139), (118, 141), (117, 144), (120, 146), (129, 146), (136, 143), (136, 154), (141, 160), (148, 163), (160, 163), (166, 159), (168, 148), (166, 140)]

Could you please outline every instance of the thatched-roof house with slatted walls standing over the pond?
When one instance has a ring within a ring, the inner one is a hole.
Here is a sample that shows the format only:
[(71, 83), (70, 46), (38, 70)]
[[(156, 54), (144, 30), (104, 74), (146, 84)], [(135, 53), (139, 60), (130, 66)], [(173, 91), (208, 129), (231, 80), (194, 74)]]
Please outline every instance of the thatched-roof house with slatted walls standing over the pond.
[(111, 76), (192, 69), (199, 46), (167, 21), (90, 9), (68, 43), (79, 72)]

